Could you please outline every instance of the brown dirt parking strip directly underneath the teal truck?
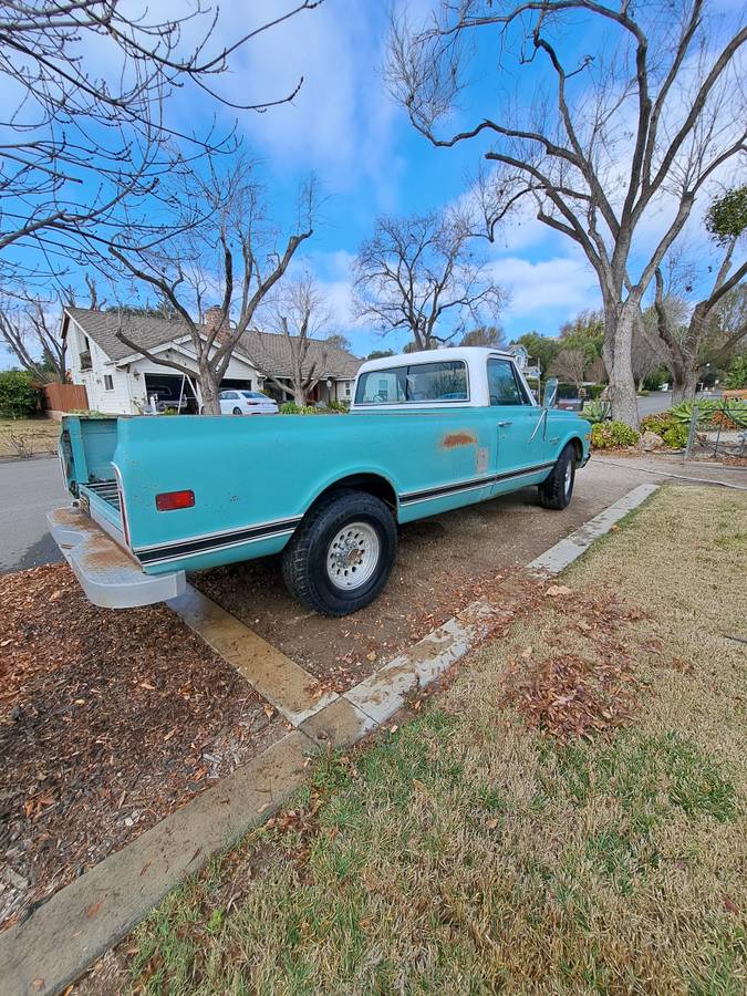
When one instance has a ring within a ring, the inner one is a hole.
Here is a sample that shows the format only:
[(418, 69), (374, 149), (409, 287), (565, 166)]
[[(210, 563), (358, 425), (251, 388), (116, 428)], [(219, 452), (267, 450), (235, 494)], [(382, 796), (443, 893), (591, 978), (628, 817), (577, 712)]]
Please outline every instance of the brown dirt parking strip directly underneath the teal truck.
[[(626, 481), (612, 500), (630, 487)], [(548, 512), (539, 507), (536, 488), (526, 488), (403, 526), (396, 564), (383, 594), (345, 619), (324, 619), (291, 599), (276, 558), (207, 571), (190, 580), (312, 672), (324, 689), (345, 691), (475, 599), (489, 596), (508, 574), (609, 500), (606, 494), (599, 502), (581, 498), (562, 512)]]

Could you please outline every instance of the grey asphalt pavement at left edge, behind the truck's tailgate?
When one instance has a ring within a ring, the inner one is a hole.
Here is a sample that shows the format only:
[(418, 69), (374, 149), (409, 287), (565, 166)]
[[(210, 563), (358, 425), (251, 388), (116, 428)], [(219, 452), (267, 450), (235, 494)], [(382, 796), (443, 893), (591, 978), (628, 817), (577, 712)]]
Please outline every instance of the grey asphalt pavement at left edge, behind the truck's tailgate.
[(62, 559), (46, 512), (65, 502), (56, 457), (0, 463), (0, 573)]

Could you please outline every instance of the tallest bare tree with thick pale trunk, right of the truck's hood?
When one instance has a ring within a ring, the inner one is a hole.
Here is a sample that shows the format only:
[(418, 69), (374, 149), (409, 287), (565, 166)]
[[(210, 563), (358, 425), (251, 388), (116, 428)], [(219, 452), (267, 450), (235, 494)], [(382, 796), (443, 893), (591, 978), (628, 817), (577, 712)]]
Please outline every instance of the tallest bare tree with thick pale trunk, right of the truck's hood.
[[(579, 25), (595, 40), (594, 54), (573, 54)], [(612, 413), (631, 425), (643, 295), (706, 183), (745, 148), (736, 56), (747, 29), (733, 25), (734, 14), (722, 25), (706, 17), (705, 0), (440, 0), (424, 30), (392, 24), (390, 84), (415, 127), (436, 146), (494, 142), (485, 154), (496, 168), (489, 236), (529, 198), (538, 219), (585, 255), (604, 305)], [(491, 113), (442, 136), (484, 37), (497, 52)], [(532, 63), (546, 71), (535, 71), (528, 102)], [(506, 80), (522, 72), (507, 93)], [(641, 229), (662, 205), (661, 230), (646, 247)]]

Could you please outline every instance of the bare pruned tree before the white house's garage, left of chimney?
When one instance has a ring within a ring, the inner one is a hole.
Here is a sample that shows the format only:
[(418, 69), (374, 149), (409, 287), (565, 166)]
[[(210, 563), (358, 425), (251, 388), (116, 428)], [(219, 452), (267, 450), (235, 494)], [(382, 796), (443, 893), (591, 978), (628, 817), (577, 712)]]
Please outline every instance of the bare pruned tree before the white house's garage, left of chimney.
[[(183, 227), (177, 217), (177, 234), (155, 249), (141, 248), (134, 232), (132, 245), (112, 246), (110, 252), (120, 272), (155, 289), (173, 308), (189, 335), (196, 369), (145, 349), (128, 334), (124, 312), (117, 338), (154, 363), (196, 376), (205, 413), (218, 415), (220, 382), (239, 340), (299, 246), (312, 235), (314, 190), (311, 185), (303, 188), (294, 230), (278, 248), (250, 163), (239, 158), (222, 174), (212, 168), (207, 179), (191, 173), (189, 180), (183, 185), (177, 179), (174, 204), (191, 216), (195, 201), (199, 203), (206, 209), (203, 221)], [(209, 309), (211, 320), (205, 324), (207, 295), (216, 293), (220, 304)]]

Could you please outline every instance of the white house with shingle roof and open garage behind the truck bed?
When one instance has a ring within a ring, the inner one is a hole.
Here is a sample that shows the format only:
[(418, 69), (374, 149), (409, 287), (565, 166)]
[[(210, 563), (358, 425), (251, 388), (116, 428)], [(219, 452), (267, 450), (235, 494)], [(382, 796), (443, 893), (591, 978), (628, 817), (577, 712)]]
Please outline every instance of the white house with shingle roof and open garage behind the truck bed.
[[(208, 322), (214, 314), (208, 311)], [(189, 333), (178, 320), (65, 308), (62, 335), (68, 346), (70, 378), (85, 387), (89, 407), (107, 414), (135, 415), (155, 395), (166, 403), (185, 398), (187, 411), (198, 412), (201, 398), (196, 382), (134, 352), (117, 339), (120, 331), (154, 356), (174, 359), (189, 370), (197, 369)], [(290, 391), (290, 356), (291, 344), (286, 335), (247, 333), (239, 340), (221, 386), (264, 391), (279, 402), (288, 401), (289, 394), (279, 391), (269, 376), (288, 384)], [(324, 340), (310, 340), (304, 374), (314, 364), (314, 376), (320, 377), (310, 401), (350, 400), (361, 363)]]

